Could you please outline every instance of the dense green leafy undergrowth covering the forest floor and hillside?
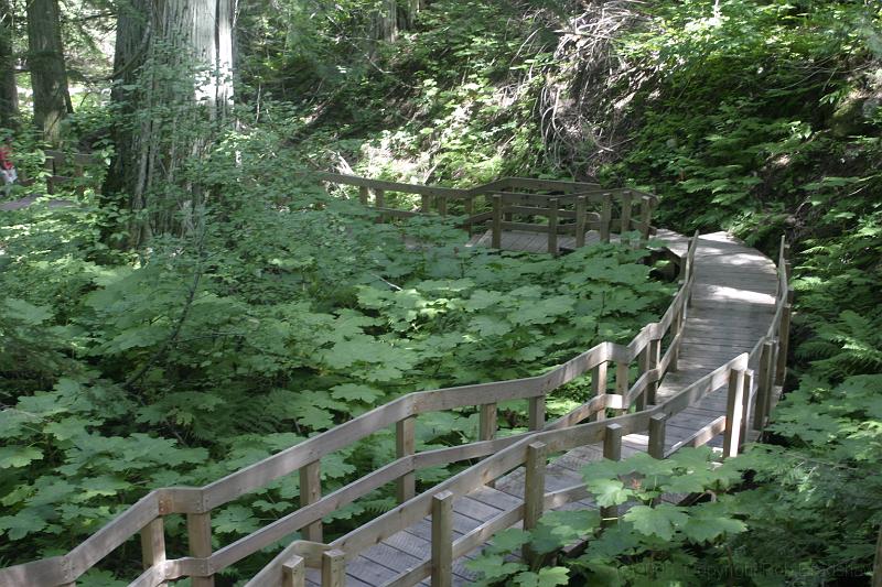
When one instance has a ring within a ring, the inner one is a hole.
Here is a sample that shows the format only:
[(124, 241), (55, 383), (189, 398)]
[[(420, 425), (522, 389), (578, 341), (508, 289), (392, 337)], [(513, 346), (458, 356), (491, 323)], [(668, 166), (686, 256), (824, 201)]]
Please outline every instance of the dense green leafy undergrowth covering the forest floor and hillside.
[[(0, 566), (68, 550), (150, 488), (217, 479), (401, 393), (535, 374), (627, 339), (671, 290), (614, 246), (552, 260), (463, 248), (440, 220), (377, 225), (310, 178), (334, 166), (447, 185), (596, 177), (657, 193), (664, 226), (728, 229), (770, 256), (784, 232), (794, 249), (792, 369), (767, 443), (721, 468), (702, 450), (589, 468), (601, 503), (641, 504), (573, 558), (559, 546), (592, 535), (594, 514), (508, 531), (474, 563), (487, 581), (868, 583), (882, 524), (879, 6), (435, 0), (390, 29), (379, 4), (244, 3), (229, 119), (190, 105), (193, 84), (162, 104), (148, 91), (200, 77), (160, 63), (158, 44), (112, 102), (86, 93), (67, 115), (65, 145), (106, 159), (64, 194), (76, 206), (0, 211)], [(68, 74), (107, 89), (96, 40), (117, 7), (82, 6), (95, 18), (62, 11)], [(24, 54), (23, 7), (0, 9)], [(25, 110), (13, 146), (36, 181), (13, 197), (44, 191), (49, 138)], [(135, 205), (115, 174), (146, 120), (164, 123), (151, 149), (175, 165)], [(552, 409), (581, 392), (563, 391)], [(523, 427), (523, 405), (502, 418)], [(420, 448), (475, 426), (469, 412), (421, 418)], [(327, 488), (394, 449), (390, 433), (335, 454)], [(635, 471), (641, 483), (619, 480)], [(712, 499), (657, 506), (659, 491)], [(297, 497), (272, 485), (214, 531), (250, 532)], [(329, 532), (391, 503), (378, 491)], [(542, 568), (504, 564), (530, 541)]]

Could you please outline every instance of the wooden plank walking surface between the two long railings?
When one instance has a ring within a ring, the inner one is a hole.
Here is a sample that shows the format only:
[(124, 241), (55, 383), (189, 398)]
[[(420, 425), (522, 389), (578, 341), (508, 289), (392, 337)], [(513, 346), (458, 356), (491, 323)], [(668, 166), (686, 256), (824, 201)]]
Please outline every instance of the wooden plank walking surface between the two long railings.
[[(507, 239), (504, 235), (503, 243), (517, 242), (520, 244), (517, 247), (519, 250), (541, 251), (544, 242), (535, 241), (527, 246), (517, 241), (517, 238), (510, 236)], [(686, 256), (689, 239), (666, 230), (659, 230), (657, 239), (665, 241), (675, 253)], [(485, 240), (473, 239), (473, 242), (485, 244)], [(712, 380), (720, 366), (755, 350), (757, 341), (770, 329), (774, 329), (778, 272), (768, 258), (729, 235), (718, 232), (698, 239), (693, 267), (692, 298), (681, 329), (676, 370), (671, 367), (671, 372), (658, 385), (655, 403), (659, 405), (685, 391), (688, 392), (702, 380)], [(722, 449), (725, 424), (721, 421), (727, 415), (730, 379), (717, 378), (716, 382), (706, 387), (708, 389), (698, 401), (690, 402), (688, 406), (666, 418), (666, 433), (662, 443), (664, 454), (673, 453), (687, 444), (710, 444)], [(746, 401), (742, 400), (744, 405), (741, 406), (744, 415), (741, 432), (746, 435), (753, 430), (751, 415), (755, 406), (751, 403), (750, 392), (745, 398)], [(646, 452), (650, 443), (647, 434), (627, 434), (622, 437), (619, 453), (626, 457), (635, 452)], [(542, 475), (546, 501), (549, 501), (548, 494), (569, 493), (579, 497), (576, 488), (582, 483), (581, 468), (603, 456), (604, 444), (595, 443), (579, 446), (551, 460), (545, 466)], [(527, 467), (507, 474), (492, 486), (481, 486), (451, 499), (449, 540), (454, 543), (465, 542), (469, 537), (478, 535), (486, 524), (494, 522), (499, 528), (498, 520), (507, 512), (523, 508), (529, 491), (529, 474), (525, 470)], [(667, 497), (671, 501), (679, 498)], [(556, 506), (552, 499), (548, 503), (551, 506), (549, 509), (594, 507), (587, 497), (559, 501), (566, 503)], [(519, 526), (520, 522), (508, 525)], [(343, 583), (347, 586), (431, 585), (430, 579), (421, 576), (429, 572), (431, 559), (435, 556), (432, 533), (432, 515), (427, 515), (409, 528), (366, 547), (361, 554), (346, 559)], [(484, 540), (492, 535), (491, 532), (485, 534)], [(473, 581), (474, 576), (465, 568), (464, 563), (480, 551), (480, 543), (483, 541), (477, 542), (478, 547), (471, 553), (461, 556), (451, 554), (450, 584), (469, 585)], [(322, 584), (322, 573), (319, 569), (309, 569), (305, 575), (306, 585)], [(258, 577), (252, 585), (261, 585), (260, 579)]]

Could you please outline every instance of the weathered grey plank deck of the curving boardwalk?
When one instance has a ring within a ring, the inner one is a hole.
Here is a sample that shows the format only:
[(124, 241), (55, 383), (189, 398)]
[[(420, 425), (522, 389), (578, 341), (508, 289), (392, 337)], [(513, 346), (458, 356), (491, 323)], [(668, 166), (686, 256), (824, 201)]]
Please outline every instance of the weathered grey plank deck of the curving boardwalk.
[[(568, 246), (568, 237), (560, 244)], [(688, 239), (676, 232), (659, 230), (656, 237), (677, 253), (685, 253)], [(599, 240), (595, 233), (587, 239)], [(475, 236), (473, 246), (487, 246), (488, 233)], [(574, 244), (574, 240), (573, 243)], [(504, 232), (503, 248), (545, 252), (545, 235)], [(749, 351), (767, 330), (774, 318), (775, 264), (765, 256), (744, 246), (729, 235), (702, 236), (696, 252), (696, 287), (684, 330), (679, 370), (665, 377), (657, 392), (664, 402), (687, 385), (710, 373), (725, 361)], [(718, 389), (700, 402), (674, 415), (667, 422), (666, 448), (684, 441), (725, 413), (725, 389)], [(648, 438), (641, 434), (624, 437), (623, 457), (647, 449)], [(721, 438), (710, 446), (720, 447)], [(581, 468), (602, 458), (600, 446), (583, 446), (551, 461), (546, 471), (546, 491), (579, 485)], [(454, 535), (460, 536), (521, 502), (524, 471), (517, 469), (496, 482), (454, 501)], [(566, 509), (590, 508), (590, 501), (567, 504)], [(386, 585), (404, 572), (419, 566), (431, 556), (430, 518), (366, 550), (346, 565), (348, 586)], [(455, 561), (453, 584), (467, 585), (473, 575), (464, 567), (466, 557)], [(319, 585), (311, 574), (311, 585)], [(428, 579), (421, 585), (429, 585)]]

